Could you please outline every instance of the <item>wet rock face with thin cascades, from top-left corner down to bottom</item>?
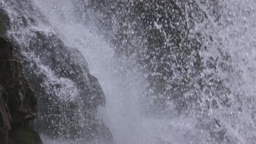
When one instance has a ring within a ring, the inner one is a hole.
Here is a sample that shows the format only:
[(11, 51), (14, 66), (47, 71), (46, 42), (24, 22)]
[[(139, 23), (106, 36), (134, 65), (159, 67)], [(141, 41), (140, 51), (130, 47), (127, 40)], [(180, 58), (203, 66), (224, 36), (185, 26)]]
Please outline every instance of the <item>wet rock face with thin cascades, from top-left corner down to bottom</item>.
[(44, 16), (30, 1), (3, 5), (12, 9), (3, 7), (0, 13), (7, 15), (4, 20), (15, 56), (21, 59), (24, 75), (38, 98), (35, 129), (52, 139), (112, 143), (109, 129), (96, 118), (97, 107), (106, 103), (104, 93), (82, 54), (66, 46), (54, 31), (37, 29), (38, 21), (45, 27), (49, 23), (42, 21)]

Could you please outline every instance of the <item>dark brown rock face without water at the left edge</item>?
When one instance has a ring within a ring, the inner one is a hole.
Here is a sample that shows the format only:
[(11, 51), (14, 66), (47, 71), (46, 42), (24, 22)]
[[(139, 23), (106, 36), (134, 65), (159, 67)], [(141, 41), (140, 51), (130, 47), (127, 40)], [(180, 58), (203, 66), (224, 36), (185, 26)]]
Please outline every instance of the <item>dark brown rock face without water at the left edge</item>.
[[(37, 99), (24, 77), (19, 59), (13, 56), (12, 51), (10, 41), (0, 37), (0, 131), (21, 136), (24, 133), (21, 129), (28, 128), (27, 124), (37, 117)], [(33, 134), (40, 141), (36, 131)], [(22, 143), (22, 137), (14, 136), (13, 139)], [(0, 135), (0, 141), (3, 140)]]

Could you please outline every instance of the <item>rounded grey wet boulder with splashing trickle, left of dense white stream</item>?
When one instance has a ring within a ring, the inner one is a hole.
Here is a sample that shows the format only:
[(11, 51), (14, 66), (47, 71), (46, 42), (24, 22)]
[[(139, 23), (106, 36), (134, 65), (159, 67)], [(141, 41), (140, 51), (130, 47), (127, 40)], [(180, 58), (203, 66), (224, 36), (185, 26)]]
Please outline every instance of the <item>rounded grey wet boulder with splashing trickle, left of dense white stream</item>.
[(82, 141), (92, 141), (103, 133), (111, 135), (106, 125), (96, 123), (97, 107), (104, 106), (106, 100), (82, 54), (53, 33), (31, 32), (26, 39), (28, 45), (17, 45), (16, 53), (38, 95), (35, 127), (53, 139), (83, 137)]

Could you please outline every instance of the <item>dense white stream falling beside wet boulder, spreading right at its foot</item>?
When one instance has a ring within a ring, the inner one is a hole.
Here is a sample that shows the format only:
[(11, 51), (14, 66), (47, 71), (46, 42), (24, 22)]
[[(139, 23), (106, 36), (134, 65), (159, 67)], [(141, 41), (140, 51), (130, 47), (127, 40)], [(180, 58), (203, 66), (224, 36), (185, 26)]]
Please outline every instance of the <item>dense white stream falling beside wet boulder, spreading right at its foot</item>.
[(71, 0), (33, 3), (64, 43), (77, 47), (88, 61), (91, 74), (97, 77), (106, 95), (106, 110), (101, 109), (100, 116), (110, 128), (115, 143), (188, 143), (195, 139), (193, 135), (184, 139), (188, 133), (196, 135), (193, 119), (146, 118), (140, 113), (144, 78), (132, 67), (133, 62), (114, 56), (112, 47), (96, 33), (94, 26), (75, 21), (79, 15), (73, 14), (75, 6)]

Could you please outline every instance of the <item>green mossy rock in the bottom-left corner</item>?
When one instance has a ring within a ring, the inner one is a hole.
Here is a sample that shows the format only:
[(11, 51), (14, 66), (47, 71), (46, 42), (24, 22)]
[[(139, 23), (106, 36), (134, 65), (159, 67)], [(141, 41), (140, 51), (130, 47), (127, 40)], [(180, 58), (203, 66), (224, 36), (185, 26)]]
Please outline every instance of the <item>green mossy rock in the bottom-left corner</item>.
[[(0, 143), (5, 142), (5, 136), (0, 135)], [(32, 128), (17, 128), (9, 131), (8, 144), (43, 144), (39, 134)]]

